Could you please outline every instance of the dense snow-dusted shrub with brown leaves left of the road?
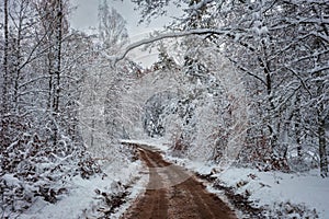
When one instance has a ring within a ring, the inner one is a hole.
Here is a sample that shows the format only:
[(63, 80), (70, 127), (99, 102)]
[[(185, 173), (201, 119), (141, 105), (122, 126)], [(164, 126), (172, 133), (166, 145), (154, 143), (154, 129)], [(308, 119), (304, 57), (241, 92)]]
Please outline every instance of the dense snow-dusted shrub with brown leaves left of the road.
[(67, 182), (101, 172), (82, 147), (58, 140), (49, 145), (37, 134), (18, 137), (0, 154), (0, 205), (3, 215), (26, 210), (37, 198), (56, 203), (68, 192)]

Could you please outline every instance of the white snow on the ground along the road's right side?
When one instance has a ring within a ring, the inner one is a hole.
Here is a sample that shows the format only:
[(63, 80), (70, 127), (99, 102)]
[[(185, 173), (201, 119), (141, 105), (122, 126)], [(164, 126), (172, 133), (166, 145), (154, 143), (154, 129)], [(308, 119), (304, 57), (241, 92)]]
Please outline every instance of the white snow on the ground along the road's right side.
[[(163, 141), (163, 140), (162, 140)], [(137, 142), (137, 141), (135, 141)], [(147, 140), (152, 147), (167, 150), (158, 140)], [(168, 151), (167, 151), (168, 152)], [(317, 170), (308, 173), (260, 172), (256, 169), (220, 168), (215, 164), (170, 157), (171, 162), (185, 166), (203, 175), (212, 174), (220, 184), (232, 187), (236, 194), (248, 194), (254, 207), (271, 209), (283, 208), (281, 204), (292, 204), (313, 211), (319, 218), (329, 218), (329, 178), (322, 178)], [(220, 172), (220, 170), (224, 170)], [(212, 189), (213, 191), (213, 189)], [(286, 217), (286, 216), (283, 216)], [(297, 215), (290, 215), (291, 218)], [(310, 217), (313, 218), (313, 217)]]

